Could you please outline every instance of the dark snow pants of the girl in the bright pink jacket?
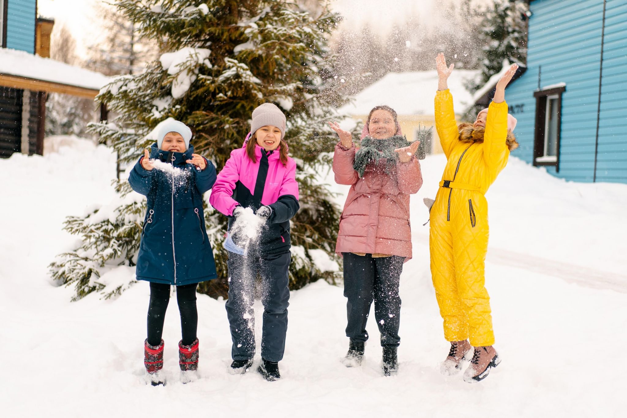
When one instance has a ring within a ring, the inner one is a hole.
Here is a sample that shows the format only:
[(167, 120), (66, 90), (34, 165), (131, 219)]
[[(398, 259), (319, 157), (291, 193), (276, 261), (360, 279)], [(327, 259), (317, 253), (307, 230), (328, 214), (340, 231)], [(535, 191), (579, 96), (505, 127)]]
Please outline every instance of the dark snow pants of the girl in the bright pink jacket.
[(263, 326), (261, 357), (279, 362), (285, 351), (287, 307), (290, 305), (288, 269), (290, 254), (247, 257), (229, 252), (229, 300), (226, 315), (231, 327), (231, 357), (248, 360), (255, 357), (255, 279), (261, 278)]

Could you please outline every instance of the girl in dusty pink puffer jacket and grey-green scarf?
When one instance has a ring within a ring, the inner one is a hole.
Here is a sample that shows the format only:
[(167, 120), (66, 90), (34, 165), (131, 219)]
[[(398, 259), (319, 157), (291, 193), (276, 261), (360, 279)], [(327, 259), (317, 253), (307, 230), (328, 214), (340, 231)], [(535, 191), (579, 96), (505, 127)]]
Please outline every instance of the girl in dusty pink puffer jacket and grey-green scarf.
[[(361, 148), (350, 132), (330, 123), (340, 142), (335, 145), (335, 182), (350, 185), (340, 218), (335, 251), (344, 258), (344, 296), (350, 338), (343, 363), (361, 364), (368, 339), (366, 321), (374, 300), (374, 314), (383, 347), (385, 375), (398, 370), (397, 347), (401, 313), (398, 295), (403, 263), (411, 258), (409, 195), (423, 184), (420, 164), (402, 136), (396, 112), (377, 106), (368, 115)], [(214, 186), (215, 187), (215, 186)]]

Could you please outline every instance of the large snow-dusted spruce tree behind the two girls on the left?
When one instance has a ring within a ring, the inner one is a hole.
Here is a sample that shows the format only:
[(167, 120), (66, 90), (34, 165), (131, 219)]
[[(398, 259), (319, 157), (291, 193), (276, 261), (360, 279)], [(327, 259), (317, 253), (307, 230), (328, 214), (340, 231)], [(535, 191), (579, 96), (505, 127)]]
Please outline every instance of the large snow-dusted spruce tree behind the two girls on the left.
[[(314, 18), (285, 0), (120, 0), (118, 10), (169, 53), (144, 73), (115, 78), (97, 100), (118, 116), (95, 123), (93, 132), (112, 144), (120, 162), (132, 163), (155, 140), (151, 132), (172, 117), (189, 125), (196, 152), (221, 169), (231, 150), (241, 147), (253, 109), (276, 103), (287, 115), (285, 137), (298, 164), (300, 211), (292, 224), (290, 287), (300, 288), (332, 271), (339, 207), (318, 182), (329, 169), (337, 140), (325, 123), (344, 104), (336, 93), (333, 57), (327, 39), (339, 16)], [(51, 264), (56, 280), (76, 285), (78, 298), (95, 290), (111, 296), (127, 284), (104, 288), (98, 278), (112, 266), (134, 265), (145, 213), (145, 199), (117, 185), (119, 204), (112, 213), (70, 217), (66, 230), (80, 235), (75, 251)], [(100, 209), (102, 211), (103, 209)], [(107, 209), (108, 211), (108, 209)], [(199, 291), (226, 297), (226, 217), (205, 212), (219, 280)], [(314, 262), (316, 260), (316, 262)], [(327, 268), (320, 268), (326, 264)]]

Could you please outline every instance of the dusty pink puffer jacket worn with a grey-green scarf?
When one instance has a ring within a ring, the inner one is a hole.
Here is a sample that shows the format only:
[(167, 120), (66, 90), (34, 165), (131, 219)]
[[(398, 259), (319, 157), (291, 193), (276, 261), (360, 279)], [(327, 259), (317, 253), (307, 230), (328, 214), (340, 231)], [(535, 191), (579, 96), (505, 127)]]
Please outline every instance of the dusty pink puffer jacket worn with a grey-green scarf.
[(398, 162), (396, 172), (385, 174), (382, 164), (366, 166), (361, 179), (353, 169), (356, 148), (335, 145), (335, 182), (349, 184), (349, 196), (340, 218), (335, 252), (390, 254), (411, 258), (409, 195), (423, 184), (416, 157)]

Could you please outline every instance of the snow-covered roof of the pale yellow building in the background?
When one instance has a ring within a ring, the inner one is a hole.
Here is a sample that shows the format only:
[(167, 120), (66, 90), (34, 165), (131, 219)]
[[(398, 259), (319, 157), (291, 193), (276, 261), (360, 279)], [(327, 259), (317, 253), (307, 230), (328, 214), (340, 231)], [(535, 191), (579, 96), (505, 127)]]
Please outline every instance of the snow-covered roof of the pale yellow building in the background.
[[(478, 74), (478, 70), (454, 70), (448, 78), (456, 113), (463, 113), (472, 102), (472, 95), (466, 90), (464, 83)], [(436, 90), (438, 72), (435, 70), (389, 73), (357, 93), (354, 102), (342, 107), (340, 112), (367, 115), (377, 105), (388, 105), (399, 115), (433, 115), (433, 97)]]

